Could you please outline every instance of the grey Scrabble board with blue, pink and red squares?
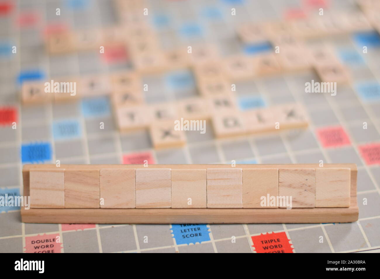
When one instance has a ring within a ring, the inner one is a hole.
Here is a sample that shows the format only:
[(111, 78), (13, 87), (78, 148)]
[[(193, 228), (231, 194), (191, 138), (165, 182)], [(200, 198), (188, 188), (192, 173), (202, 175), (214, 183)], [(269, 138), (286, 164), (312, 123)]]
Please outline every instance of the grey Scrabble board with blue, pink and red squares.
[[(21, 222), (20, 208), (0, 206), (0, 252), (379, 252), (380, 21), (373, 13), (379, 10), (378, 4), (353, 0), (141, 3), (128, 9), (143, 14), (147, 8), (147, 22), (162, 52), (207, 44), (217, 48), (220, 59), (255, 60), (273, 54), (276, 40), (255, 38), (252, 33), (244, 36), (244, 28), (268, 22), (299, 23), (295, 30), (302, 37), (302, 49), (329, 49), (331, 56), (326, 60), (332, 64), (319, 65), (323, 60), (319, 57), (313, 68), (302, 60), (290, 64), (281, 60), (285, 71), (271, 68), (253, 77), (234, 71), (233, 101), (241, 112), (297, 104), (304, 110), (307, 127), (302, 120), (301, 125), (290, 125), (279, 133), (219, 133), (217, 122), (207, 119), (204, 134), (184, 131), (180, 145), (157, 148), (150, 129), (120, 129), (110, 94), (23, 102), (22, 86), (28, 82), (62, 77), (99, 81), (133, 70), (133, 52), (120, 45), (110, 45), (104, 54), (70, 45), (70, 51), (62, 53), (54, 47), (49, 51), (46, 38), (62, 30), (69, 35), (74, 30), (101, 30), (111, 36), (115, 26), (127, 32), (123, 27), (133, 25), (134, 19), (123, 13), (122, 1), (1, 1), (0, 195), (22, 195), (24, 164), (56, 164), (57, 160), (60, 164), (231, 164), (232, 160), (236, 164), (320, 164), (322, 160), (357, 165), (359, 220), (341, 224), (26, 224)], [(351, 26), (347, 27), (350, 32), (340, 32), (330, 23), (316, 32), (302, 25), (320, 16), (320, 9), (323, 18), (339, 23), (361, 13), (370, 29), (358, 24), (358, 30)], [(265, 26), (274, 29), (277, 25)], [(197, 98), (204, 89), (196, 74), (184, 69), (158, 69), (140, 77), (141, 84), (149, 85), (141, 95), (144, 106), (168, 107)], [(306, 93), (306, 83), (312, 80), (339, 81), (336, 95)], [(294, 129), (300, 126), (303, 129)]]

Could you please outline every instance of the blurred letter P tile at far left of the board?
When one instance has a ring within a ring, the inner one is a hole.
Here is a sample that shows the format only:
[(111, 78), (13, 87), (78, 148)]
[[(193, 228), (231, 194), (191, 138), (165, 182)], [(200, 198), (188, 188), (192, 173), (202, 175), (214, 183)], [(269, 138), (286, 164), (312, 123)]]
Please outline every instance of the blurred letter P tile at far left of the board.
[(44, 82), (24, 82), (21, 87), (23, 104), (51, 102), (54, 93), (45, 92)]

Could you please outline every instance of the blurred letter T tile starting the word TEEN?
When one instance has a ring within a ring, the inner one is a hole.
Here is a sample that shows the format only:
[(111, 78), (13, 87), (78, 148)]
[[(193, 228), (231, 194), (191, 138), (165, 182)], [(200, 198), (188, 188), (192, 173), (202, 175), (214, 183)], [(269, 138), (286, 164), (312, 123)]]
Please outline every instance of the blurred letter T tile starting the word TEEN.
[(147, 106), (116, 107), (115, 113), (120, 131), (146, 128), (152, 121)]

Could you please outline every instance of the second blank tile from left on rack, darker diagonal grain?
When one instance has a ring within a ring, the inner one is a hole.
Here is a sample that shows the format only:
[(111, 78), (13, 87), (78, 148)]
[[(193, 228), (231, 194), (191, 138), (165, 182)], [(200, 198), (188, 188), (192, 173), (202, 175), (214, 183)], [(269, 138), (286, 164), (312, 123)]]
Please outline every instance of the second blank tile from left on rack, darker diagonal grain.
[(65, 170), (65, 208), (99, 208), (99, 177), (99, 170)]

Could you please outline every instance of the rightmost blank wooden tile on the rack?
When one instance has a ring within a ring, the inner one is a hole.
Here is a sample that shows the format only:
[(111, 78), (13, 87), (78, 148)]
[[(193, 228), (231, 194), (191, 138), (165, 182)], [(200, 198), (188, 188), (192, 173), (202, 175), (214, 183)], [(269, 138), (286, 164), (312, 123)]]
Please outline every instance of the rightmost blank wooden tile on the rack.
[(350, 207), (350, 169), (315, 169), (315, 207)]

